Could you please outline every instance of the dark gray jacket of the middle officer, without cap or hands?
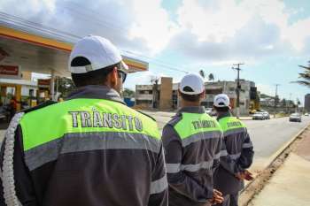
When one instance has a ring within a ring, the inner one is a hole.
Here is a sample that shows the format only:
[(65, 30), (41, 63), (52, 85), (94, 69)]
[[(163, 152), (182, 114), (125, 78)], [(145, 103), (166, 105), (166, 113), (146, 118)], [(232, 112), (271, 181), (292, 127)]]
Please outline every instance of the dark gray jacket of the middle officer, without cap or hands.
[(201, 127), (219, 126), (215, 119), (205, 114), (204, 107), (185, 107), (164, 127), (162, 141), (167, 162), (170, 206), (205, 205), (213, 197), (213, 170), (220, 161), (221, 127), (217, 131), (192, 135), (184, 141), (174, 126), (188, 120), (184, 119), (185, 113), (207, 116), (209, 124), (203, 123)]

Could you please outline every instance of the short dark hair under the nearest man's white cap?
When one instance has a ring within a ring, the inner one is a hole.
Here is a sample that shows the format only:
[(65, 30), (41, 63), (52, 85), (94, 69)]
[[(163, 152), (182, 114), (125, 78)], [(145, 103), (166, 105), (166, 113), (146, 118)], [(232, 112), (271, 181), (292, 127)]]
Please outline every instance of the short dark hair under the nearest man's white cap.
[[(71, 62), (71, 66), (85, 66), (90, 64), (91, 63), (89, 60), (85, 57), (75, 57)], [(74, 80), (76, 87), (84, 87), (87, 85), (104, 85), (107, 75), (112, 72), (114, 67), (119, 68), (120, 63), (86, 73), (71, 73), (72, 80)]]

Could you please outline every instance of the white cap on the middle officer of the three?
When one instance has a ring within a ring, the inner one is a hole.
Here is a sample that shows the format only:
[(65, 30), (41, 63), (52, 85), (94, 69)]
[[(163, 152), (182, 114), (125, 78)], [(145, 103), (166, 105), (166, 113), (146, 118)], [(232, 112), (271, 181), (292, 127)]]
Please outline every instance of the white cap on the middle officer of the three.
[(204, 80), (197, 74), (186, 74), (179, 86), (180, 92), (186, 95), (198, 95), (205, 91)]

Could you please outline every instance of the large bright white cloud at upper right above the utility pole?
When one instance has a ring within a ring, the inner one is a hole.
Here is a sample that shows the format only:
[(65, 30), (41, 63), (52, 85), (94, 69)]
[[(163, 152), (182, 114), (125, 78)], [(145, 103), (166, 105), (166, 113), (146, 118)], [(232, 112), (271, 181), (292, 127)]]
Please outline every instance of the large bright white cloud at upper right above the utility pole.
[(305, 52), (310, 18), (289, 24), (299, 11), (279, 0), (183, 0), (171, 46), (201, 60)]

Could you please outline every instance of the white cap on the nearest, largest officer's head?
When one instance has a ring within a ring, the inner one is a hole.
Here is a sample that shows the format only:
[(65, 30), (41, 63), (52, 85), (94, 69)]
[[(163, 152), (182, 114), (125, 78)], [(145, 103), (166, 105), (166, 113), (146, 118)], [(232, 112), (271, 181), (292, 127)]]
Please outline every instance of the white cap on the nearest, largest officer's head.
[[(87, 58), (90, 65), (72, 66), (71, 62), (75, 57)], [(74, 45), (69, 58), (69, 71), (72, 73), (86, 73), (117, 63), (121, 63), (122, 72), (128, 72), (128, 65), (122, 61), (120, 50), (112, 42), (101, 36), (88, 35)]]

